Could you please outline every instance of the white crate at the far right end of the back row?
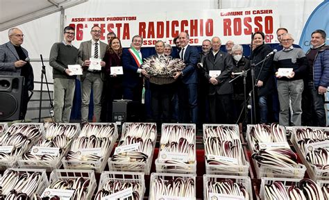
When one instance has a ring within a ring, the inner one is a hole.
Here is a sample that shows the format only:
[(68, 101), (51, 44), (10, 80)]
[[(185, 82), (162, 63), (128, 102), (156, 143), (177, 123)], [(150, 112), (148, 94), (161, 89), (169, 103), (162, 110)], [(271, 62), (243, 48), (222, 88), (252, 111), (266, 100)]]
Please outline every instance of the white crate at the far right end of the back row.
[(294, 145), (296, 152), (299, 155), (299, 158), (301, 158), (302, 163), (305, 165), (306, 170), (307, 170), (307, 174), (308, 176), (310, 176), (310, 178), (313, 181), (317, 181), (317, 180), (326, 180), (329, 181), (329, 169), (324, 170), (324, 169), (319, 169), (317, 167), (315, 167), (314, 165), (312, 165), (311, 163), (309, 163), (306, 160), (306, 154), (305, 151), (303, 151), (303, 149), (301, 149), (299, 147), (299, 145), (297, 144), (298, 141), (296, 141), (296, 130), (298, 128), (312, 128), (312, 129), (317, 129), (317, 130), (326, 130), (329, 131), (329, 128), (325, 128), (325, 127), (311, 127), (311, 126), (294, 126), (293, 128), (293, 132), (292, 132), (292, 138), (290, 139), (290, 141), (292, 142), (292, 144)]

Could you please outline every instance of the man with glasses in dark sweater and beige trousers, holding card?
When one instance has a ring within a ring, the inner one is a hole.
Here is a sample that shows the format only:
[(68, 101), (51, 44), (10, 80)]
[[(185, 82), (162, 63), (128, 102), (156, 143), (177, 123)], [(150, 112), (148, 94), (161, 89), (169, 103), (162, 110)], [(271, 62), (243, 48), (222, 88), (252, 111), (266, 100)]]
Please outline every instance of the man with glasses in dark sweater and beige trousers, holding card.
[(71, 76), (68, 65), (78, 62), (78, 49), (71, 42), (74, 40), (74, 28), (64, 28), (64, 40), (53, 44), (50, 50), (49, 65), (53, 67), (53, 116), (55, 122), (69, 122), (71, 115), (76, 76)]

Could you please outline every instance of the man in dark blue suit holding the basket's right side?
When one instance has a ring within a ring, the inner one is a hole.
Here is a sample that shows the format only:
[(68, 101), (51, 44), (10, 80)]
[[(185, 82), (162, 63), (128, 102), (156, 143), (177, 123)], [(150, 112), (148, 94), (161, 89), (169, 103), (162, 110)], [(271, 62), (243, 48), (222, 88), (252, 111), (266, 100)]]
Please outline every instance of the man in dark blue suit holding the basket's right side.
[[(179, 34), (180, 47), (182, 48), (178, 55), (184, 60), (185, 69), (182, 72), (176, 72), (174, 78), (180, 76), (178, 86), (178, 122), (194, 123), (198, 121), (198, 74), (196, 64), (199, 59), (199, 52), (195, 47), (189, 46), (189, 34), (181, 32)], [(191, 114), (191, 116), (189, 116)]]

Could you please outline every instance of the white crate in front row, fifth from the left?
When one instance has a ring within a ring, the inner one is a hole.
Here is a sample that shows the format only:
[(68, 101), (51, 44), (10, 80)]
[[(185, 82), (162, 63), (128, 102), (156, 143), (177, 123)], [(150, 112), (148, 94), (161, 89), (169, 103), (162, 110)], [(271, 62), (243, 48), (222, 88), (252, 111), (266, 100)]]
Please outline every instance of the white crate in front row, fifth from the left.
[[(251, 189), (251, 179), (246, 176), (223, 176), (223, 175), (203, 175), (203, 198), (207, 200), (207, 183), (208, 181), (212, 182), (220, 182), (226, 179), (230, 179), (233, 183), (241, 183), (246, 188), (246, 192), (248, 192), (249, 199), (253, 199), (253, 190)], [(210, 199), (208, 199), (210, 200)]]

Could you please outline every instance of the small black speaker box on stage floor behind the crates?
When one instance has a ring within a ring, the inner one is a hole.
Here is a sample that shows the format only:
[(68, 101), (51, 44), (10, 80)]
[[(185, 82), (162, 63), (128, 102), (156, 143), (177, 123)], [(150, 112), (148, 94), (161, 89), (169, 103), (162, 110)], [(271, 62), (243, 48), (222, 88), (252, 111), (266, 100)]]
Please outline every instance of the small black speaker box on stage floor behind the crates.
[(112, 103), (112, 121), (113, 122), (138, 122), (137, 101), (115, 100)]

